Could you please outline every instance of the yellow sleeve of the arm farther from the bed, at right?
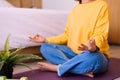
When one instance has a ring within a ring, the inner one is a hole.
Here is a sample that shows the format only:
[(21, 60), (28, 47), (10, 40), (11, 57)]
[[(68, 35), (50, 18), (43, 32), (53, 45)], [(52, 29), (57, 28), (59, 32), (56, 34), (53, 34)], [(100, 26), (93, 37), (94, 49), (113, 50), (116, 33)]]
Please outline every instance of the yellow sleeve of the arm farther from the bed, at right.
[(109, 31), (109, 9), (104, 5), (97, 17), (92, 38), (95, 39), (96, 45), (100, 50), (105, 51), (108, 48), (108, 31)]

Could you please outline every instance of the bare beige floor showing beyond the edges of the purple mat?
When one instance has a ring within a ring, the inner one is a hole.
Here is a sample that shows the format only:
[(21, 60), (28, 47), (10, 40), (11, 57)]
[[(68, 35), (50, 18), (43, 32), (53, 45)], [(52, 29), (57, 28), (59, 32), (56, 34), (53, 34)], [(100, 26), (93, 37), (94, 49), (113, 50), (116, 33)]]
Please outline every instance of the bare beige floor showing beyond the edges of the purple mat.
[[(120, 58), (120, 46), (110, 46), (110, 55), (114, 58)], [(27, 63), (32, 69), (38, 69), (39, 67), (36, 65), (37, 62)], [(28, 71), (30, 69), (24, 66), (16, 66), (14, 67), (13, 74), (17, 74), (20, 72)]]

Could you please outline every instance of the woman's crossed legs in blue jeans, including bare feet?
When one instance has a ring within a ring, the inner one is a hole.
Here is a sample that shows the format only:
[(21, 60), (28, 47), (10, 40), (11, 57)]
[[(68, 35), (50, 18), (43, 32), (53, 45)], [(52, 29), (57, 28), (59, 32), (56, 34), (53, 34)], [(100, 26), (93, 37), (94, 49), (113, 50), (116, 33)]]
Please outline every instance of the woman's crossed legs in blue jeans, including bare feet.
[(50, 63), (38, 62), (40, 69), (57, 72), (59, 76), (69, 72), (94, 77), (93, 72), (99, 73), (106, 69), (102, 62), (107, 63), (107, 60), (101, 53), (83, 52), (77, 55), (67, 46), (49, 43), (41, 46), (41, 53)]

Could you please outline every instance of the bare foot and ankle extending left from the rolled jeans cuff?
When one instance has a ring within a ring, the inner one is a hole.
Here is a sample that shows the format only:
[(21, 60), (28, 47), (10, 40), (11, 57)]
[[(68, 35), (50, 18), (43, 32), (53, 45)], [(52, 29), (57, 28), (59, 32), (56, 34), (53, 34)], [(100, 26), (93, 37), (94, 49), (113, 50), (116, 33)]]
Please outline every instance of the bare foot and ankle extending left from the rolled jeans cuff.
[(38, 62), (37, 65), (40, 67), (42, 71), (54, 71), (57, 72), (57, 65), (48, 63), (48, 62)]

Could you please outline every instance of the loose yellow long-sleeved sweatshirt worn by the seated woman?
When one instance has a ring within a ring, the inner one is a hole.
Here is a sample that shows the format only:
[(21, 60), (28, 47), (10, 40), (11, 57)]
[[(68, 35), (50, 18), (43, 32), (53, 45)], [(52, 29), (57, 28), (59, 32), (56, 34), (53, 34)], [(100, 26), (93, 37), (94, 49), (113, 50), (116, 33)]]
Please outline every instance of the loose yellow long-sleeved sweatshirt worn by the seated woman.
[(108, 58), (109, 9), (105, 1), (96, 0), (86, 4), (78, 4), (70, 12), (64, 33), (48, 38), (49, 43), (67, 44), (75, 53), (80, 44), (88, 44), (94, 38), (100, 52)]

